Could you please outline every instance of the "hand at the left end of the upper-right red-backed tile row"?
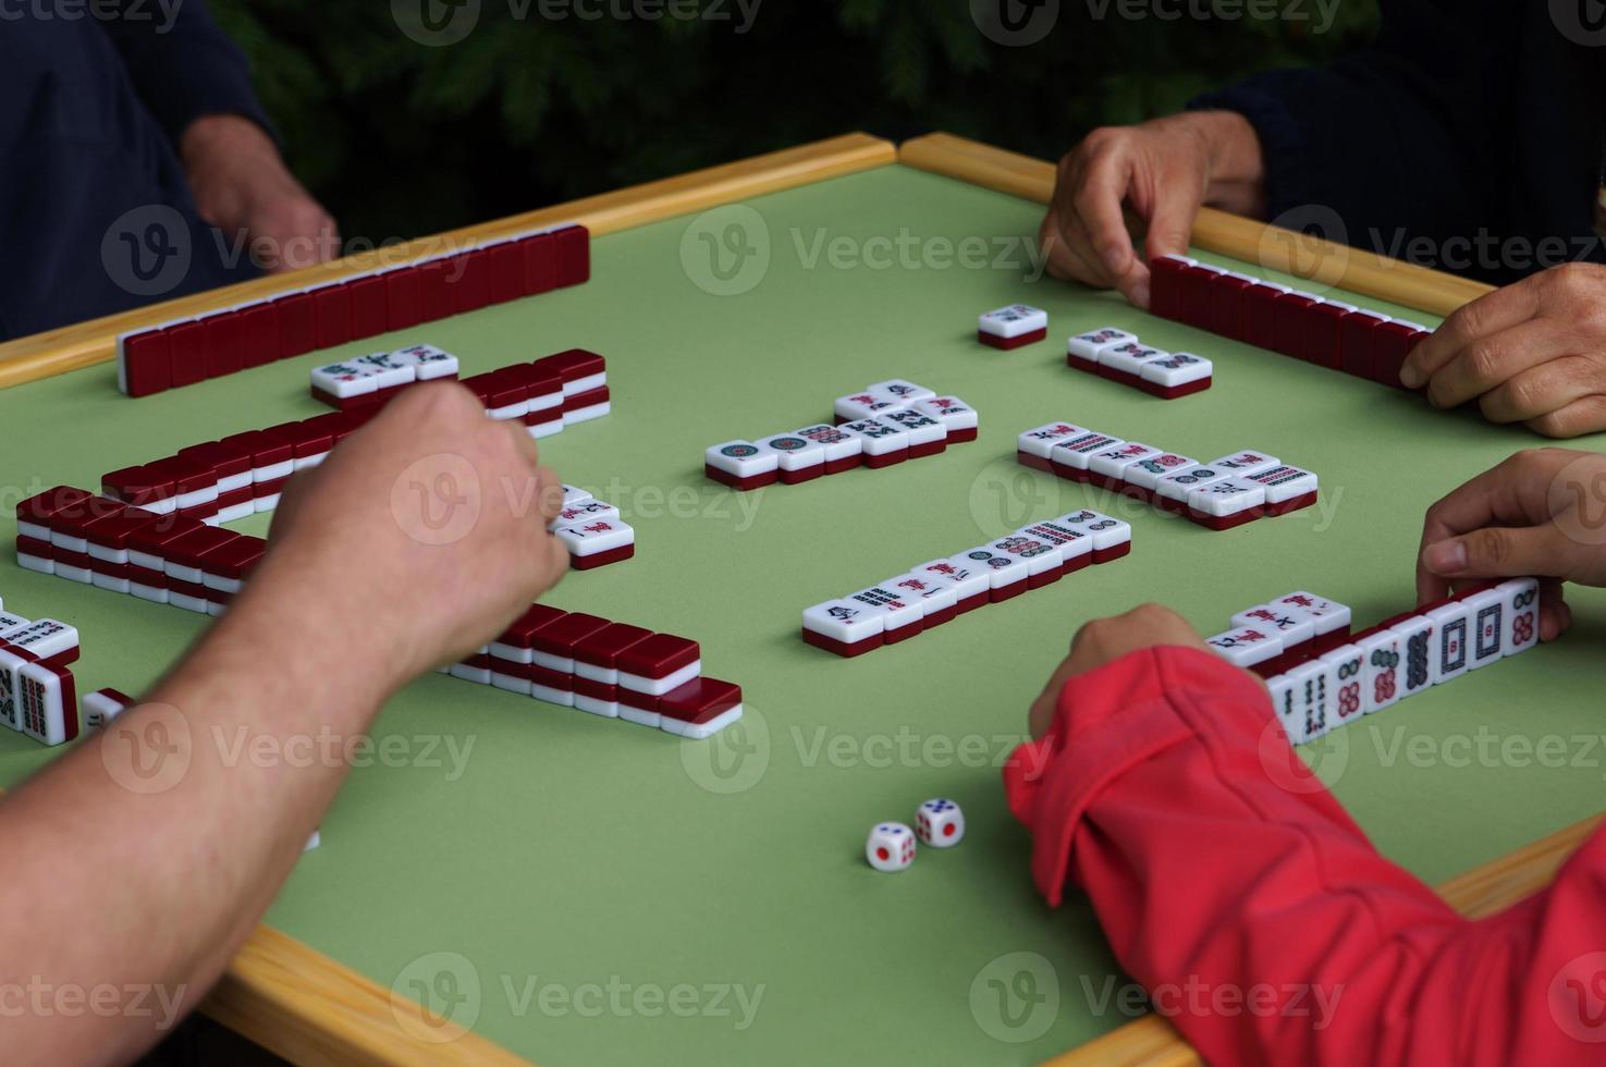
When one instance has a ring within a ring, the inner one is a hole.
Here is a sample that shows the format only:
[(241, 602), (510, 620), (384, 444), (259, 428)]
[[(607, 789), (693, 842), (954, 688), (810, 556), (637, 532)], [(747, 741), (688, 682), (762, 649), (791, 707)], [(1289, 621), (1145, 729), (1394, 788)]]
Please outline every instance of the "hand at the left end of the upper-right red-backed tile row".
[(1094, 130), (1060, 161), (1039, 233), (1049, 273), (1119, 289), (1147, 309), (1148, 267), (1132, 249), (1123, 209), (1147, 230), (1148, 259), (1180, 256), (1201, 204), (1264, 211), (1264, 169), (1254, 127), (1232, 111)]

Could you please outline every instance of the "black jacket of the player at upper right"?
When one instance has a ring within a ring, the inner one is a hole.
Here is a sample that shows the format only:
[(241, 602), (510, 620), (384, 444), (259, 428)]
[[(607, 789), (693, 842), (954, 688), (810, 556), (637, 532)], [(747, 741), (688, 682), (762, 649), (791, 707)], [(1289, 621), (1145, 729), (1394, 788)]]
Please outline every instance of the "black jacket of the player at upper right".
[[(1442, 260), (1481, 231), (1588, 235), (1603, 98), (1547, 6), (1384, 2), (1370, 47), (1188, 106), (1254, 125), (1274, 220), (1302, 228), (1336, 215), (1344, 233), (1328, 236), (1416, 260)], [(1442, 265), (1508, 273), (1503, 262)]]

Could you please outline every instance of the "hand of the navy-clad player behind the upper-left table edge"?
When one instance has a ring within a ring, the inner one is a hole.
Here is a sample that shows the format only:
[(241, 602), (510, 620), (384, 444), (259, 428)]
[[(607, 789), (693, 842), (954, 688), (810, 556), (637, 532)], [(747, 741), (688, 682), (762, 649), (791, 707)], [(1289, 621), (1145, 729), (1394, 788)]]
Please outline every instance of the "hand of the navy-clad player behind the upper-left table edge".
[(252, 259), (268, 273), (339, 256), (334, 219), (255, 122), (228, 114), (196, 119), (180, 140), (180, 154), (201, 217), (225, 236), (249, 241)]

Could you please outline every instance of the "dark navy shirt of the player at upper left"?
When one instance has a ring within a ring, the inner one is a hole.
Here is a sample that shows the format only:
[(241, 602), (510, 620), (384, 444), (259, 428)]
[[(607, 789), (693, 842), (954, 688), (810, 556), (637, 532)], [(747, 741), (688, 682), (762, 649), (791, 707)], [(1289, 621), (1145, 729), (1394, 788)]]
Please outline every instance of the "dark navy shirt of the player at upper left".
[(252, 276), (201, 222), (178, 161), (201, 116), (267, 129), (201, 0), (32, 11), (0, 11), (0, 337)]

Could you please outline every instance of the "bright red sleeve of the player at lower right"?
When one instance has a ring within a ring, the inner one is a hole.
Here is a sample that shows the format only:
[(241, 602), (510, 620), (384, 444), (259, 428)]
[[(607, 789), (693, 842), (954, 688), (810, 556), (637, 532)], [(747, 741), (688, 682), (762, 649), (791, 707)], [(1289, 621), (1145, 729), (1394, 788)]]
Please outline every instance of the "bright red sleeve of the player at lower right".
[(1208, 1062), (1606, 1062), (1606, 837), (1478, 922), (1376, 853), (1251, 675), (1134, 652), (1060, 693), (1004, 771), (1057, 905)]

